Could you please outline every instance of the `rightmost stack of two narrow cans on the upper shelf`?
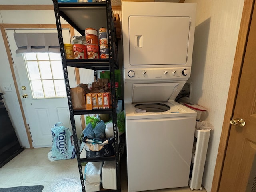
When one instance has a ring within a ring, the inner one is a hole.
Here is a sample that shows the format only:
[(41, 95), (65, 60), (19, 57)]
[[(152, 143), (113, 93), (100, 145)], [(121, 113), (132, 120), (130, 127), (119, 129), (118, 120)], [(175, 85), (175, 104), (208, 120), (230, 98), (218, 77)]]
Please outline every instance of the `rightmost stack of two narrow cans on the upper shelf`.
[(108, 36), (107, 36), (106, 28), (99, 29), (99, 41), (100, 41), (100, 58), (108, 59), (109, 50), (108, 50)]

